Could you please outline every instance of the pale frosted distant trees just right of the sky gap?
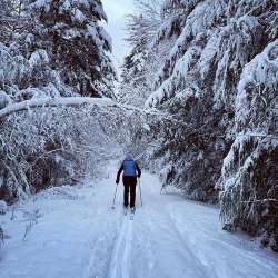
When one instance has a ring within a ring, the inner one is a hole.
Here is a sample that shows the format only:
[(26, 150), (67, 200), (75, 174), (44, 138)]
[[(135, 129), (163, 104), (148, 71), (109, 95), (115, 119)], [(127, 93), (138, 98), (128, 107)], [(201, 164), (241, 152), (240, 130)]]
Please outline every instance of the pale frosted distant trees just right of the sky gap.
[(153, 46), (153, 36), (162, 22), (161, 2), (143, 0), (137, 2), (138, 12), (127, 17), (127, 42), (131, 52), (121, 67), (120, 100), (125, 103), (143, 106), (152, 90), (152, 80), (157, 70), (169, 54), (171, 43)]

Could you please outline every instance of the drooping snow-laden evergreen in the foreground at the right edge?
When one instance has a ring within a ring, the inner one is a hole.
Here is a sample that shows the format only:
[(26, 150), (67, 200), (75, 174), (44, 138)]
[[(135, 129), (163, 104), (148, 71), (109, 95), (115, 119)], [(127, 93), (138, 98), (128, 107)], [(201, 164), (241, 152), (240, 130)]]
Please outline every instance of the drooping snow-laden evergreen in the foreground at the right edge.
[(236, 140), (222, 166), (226, 227), (264, 235), (278, 250), (278, 40), (245, 66), (236, 96)]

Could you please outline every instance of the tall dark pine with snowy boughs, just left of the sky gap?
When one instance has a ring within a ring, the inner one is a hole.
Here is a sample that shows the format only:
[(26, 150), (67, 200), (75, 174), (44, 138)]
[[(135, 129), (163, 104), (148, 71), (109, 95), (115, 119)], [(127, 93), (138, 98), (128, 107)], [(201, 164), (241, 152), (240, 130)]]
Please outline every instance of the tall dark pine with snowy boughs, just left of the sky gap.
[(47, 51), (51, 68), (81, 96), (113, 97), (115, 72), (107, 54), (111, 42), (97, 0), (30, 0), (33, 37), (30, 51)]

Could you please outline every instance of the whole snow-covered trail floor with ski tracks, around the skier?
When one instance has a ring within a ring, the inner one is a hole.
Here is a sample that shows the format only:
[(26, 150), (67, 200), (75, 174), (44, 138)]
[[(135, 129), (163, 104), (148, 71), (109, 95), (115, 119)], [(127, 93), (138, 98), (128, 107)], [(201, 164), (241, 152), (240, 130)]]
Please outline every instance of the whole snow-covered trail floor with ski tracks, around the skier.
[(21, 203), (12, 221), (11, 211), (1, 216), (11, 238), (0, 250), (0, 277), (278, 277), (278, 257), (222, 231), (217, 208), (160, 195), (149, 173), (141, 186), (143, 207), (138, 202), (133, 220), (122, 214), (122, 188), (110, 209), (115, 177), (48, 190)]

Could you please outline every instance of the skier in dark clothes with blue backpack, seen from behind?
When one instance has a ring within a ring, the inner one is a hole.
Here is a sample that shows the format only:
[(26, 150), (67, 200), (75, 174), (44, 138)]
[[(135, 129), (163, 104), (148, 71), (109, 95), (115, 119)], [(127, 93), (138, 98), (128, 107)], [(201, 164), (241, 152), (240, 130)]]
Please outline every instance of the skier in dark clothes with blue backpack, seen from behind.
[(117, 173), (117, 179), (116, 179), (117, 185), (120, 182), (120, 175), (122, 171), (123, 171), (122, 182), (125, 187), (123, 191), (125, 211), (127, 211), (128, 206), (130, 206), (131, 212), (135, 212), (137, 177), (138, 178), (141, 177), (141, 169), (139, 168), (138, 163), (132, 159), (132, 157), (130, 155), (127, 155)]

